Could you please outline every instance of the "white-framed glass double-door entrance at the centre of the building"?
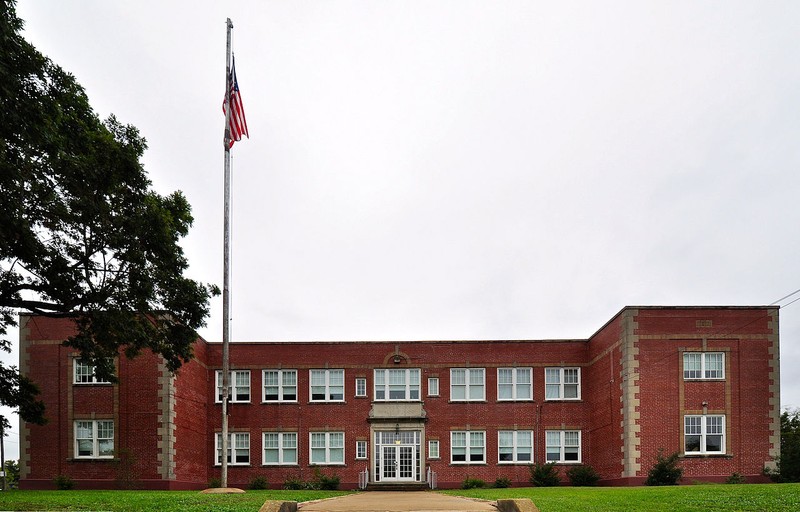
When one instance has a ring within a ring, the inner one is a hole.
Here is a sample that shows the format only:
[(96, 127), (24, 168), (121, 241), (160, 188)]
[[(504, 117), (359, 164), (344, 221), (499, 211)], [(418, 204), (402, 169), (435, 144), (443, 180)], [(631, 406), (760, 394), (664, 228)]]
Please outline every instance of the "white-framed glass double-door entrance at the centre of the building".
[(375, 481), (420, 482), (419, 430), (375, 432)]

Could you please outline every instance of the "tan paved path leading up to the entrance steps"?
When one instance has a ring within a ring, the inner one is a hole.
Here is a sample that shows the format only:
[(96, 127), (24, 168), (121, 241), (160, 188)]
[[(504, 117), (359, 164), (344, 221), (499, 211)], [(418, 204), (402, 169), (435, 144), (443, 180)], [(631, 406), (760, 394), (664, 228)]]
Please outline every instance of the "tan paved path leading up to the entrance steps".
[(298, 512), (497, 512), (494, 502), (446, 496), (438, 492), (367, 491), (340, 498), (300, 503)]

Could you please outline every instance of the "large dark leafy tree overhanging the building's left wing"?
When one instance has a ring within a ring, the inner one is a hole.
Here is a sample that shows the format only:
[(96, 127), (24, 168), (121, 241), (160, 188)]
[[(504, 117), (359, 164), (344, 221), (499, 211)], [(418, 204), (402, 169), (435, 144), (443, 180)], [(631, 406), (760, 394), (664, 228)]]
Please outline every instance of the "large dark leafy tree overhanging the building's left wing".
[[(15, 0), (0, 5), (0, 349), (17, 312), (68, 316), (66, 344), (98, 377), (114, 380), (121, 348), (177, 371), (219, 293), (183, 275), (189, 203), (151, 189), (138, 130), (101, 122), (75, 78), (20, 36)], [(37, 393), (0, 365), (0, 404), (42, 422)]]

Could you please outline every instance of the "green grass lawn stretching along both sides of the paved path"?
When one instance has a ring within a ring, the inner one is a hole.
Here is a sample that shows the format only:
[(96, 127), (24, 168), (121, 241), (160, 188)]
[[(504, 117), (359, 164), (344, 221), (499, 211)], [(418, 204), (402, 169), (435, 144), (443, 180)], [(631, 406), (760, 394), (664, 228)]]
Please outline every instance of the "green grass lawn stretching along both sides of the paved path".
[[(497, 500), (530, 498), (542, 512), (596, 511), (800, 511), (800, 484), (684, 485), (677, 487), (546, 487), (443, 491)], [(257, 512), (268, 499), (309, 501), (347, 494), (334, 491), (7, 491), (0, 510), (163, 510)]]

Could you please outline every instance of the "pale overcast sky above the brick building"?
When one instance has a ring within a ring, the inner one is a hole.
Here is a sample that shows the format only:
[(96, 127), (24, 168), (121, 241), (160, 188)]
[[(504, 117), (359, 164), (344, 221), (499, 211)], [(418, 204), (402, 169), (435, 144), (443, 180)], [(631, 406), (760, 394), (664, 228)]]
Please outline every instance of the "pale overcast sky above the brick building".
[[(153, 187), (192, 205), (190, 276), (220, 286), (231, 18), (234, 342), (587, 338), (626, 305), (777, 302), (800, 407), (800, 294), (779, 301), (800, 289), (800, 3), (17, 12), (141, 130)], [(201, 335), (221, 341), (220, 298)]]

